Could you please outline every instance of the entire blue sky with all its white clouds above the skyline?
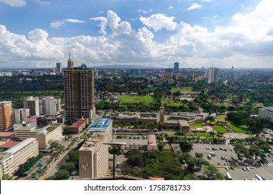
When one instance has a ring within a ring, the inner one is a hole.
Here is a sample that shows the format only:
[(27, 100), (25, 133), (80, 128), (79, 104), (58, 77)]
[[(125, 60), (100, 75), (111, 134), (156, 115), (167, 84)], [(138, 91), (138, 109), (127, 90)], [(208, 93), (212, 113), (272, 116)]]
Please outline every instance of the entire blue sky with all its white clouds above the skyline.
[(272, 0), (0, 0), (0, 68), (273, 68)]

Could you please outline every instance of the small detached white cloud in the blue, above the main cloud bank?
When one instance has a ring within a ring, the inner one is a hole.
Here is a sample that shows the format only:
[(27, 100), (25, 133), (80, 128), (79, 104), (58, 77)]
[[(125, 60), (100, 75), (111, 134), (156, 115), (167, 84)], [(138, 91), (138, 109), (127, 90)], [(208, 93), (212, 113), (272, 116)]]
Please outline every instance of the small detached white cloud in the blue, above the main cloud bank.
[(166, 28), (167, 30), (175, 30), (177, 23), (173, 21), (174, 17), (167, 17), (163, 14), (154, 14), (150, 17), (140, 17), (140, 21), (145, 26), (153, 28), (155, 31)]

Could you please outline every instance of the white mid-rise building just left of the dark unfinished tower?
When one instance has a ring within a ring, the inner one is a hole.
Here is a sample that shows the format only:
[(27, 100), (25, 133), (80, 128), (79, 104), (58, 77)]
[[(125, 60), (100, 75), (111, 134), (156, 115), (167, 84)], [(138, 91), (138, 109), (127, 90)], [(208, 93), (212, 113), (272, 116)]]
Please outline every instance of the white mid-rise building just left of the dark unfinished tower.
[(53, 96), (44, 96), (40, 99), (40, 114), (47, 116), (56, 116), (60, 113), (60, 98), (54, 98)]

